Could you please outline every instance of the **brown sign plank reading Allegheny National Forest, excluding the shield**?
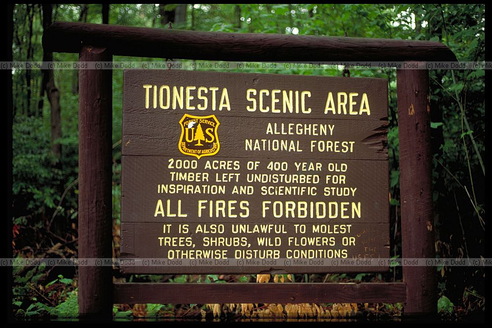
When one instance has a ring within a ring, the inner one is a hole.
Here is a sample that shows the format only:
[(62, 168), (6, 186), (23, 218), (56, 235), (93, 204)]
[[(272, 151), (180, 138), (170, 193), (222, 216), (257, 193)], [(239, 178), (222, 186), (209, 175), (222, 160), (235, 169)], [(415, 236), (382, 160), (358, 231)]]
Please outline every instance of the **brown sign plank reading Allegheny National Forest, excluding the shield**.
[[(161, 117), (165, 121), (179, 121), (181, 116)], [(125, 115), (123, 155), (182, 155), (176, 147), (181, 135), (179, 124), (162, 126), (162, 121), (155, 117), (152, 113)], [(260, 121), (225, 117), (220, 118), (220, 125), (220, 130), (231, 130), (225, 135), (221, 133), (219, 138), (222, 157), (388, 158), (387, 145), (383, 143), (387, 135), (385, 121), (338, 119), (327, 123), (321, 119)]]

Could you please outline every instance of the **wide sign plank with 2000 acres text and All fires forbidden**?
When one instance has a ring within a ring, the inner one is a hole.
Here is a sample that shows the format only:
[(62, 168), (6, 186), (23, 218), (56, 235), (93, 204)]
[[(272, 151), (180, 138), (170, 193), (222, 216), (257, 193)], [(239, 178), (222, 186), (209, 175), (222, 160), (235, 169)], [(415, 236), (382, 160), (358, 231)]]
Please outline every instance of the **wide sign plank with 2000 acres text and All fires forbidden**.
[[(122, 221), (169, 223), (176, 222), (175, 214), (180, 213), (186, 215), (184, 222), (257, 222), (260, 218), (268, 222), (389, 223), (387, 161), (262, 161), (261, 158), (215, 156), (191, 159), (190, 162), (184, 160), (183, 157), (123, 156)], [(259, 163), (258, 169), (248, 170), (248, 162)], [(195, 163), (196, 167), (176, 168), (184, 163), (190, 166)], [(279, 165), (286, 170), (267, 169), (274, 163), (282, 163)], [(378, 181), (378, 188), (381, 188), (378, 192), (372, 188), (374, 181)], [(156, 214), (159, 200), (165, 211)], [(166, 214), (168, 200), (171, 216)], [(211, 215), (209, 202), (202, 201), (200, 209), (190, 206), (200, 200), (236, 201), (236, 208), (230, 213), (220, 211), (218, 215), (215, 212)], [(287, 211), (286, 202), (293, 200), (307, 202), (306, 213), (299, 213), (298, 203), (294, 204), (293, 213)], [(245, 212), (239, 207), (242, 201), (250, 205), (247, 217), (240, 215)], [(274, 202), (282, 204), (274, 206)], [(347, 210), (343, 215), (340, 211), (342, 202), (350, 203), (344, 205)], [(352, 217), (352, 203), (360, 203), (361, 217)]]

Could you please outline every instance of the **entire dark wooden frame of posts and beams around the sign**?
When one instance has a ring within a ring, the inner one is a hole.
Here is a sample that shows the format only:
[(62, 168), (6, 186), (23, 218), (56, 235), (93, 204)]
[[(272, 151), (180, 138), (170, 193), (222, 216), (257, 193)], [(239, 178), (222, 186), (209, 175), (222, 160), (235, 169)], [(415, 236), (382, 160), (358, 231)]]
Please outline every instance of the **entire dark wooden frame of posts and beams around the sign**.
[[(113, 55), (189, 60), (456, 61), (439, 42), (160, 30), (53, 23), (50, 52), (81, 61)], [(300, 55), (302, 54), (302, 55)], [(301, 58), (302, 57), (302, 58)], [(403, 258), (433, 258), (429, 72), (397, 70)], [(79, 258), (112, 257), (112, 70), (79, 70)], [(114, 303), (405, 303), (405, 315), (435, 314), (433, 267), (403, 267), (402, 283), (113, 283), (112, 267), (79, 268), (82, 319), (112, 319)]]

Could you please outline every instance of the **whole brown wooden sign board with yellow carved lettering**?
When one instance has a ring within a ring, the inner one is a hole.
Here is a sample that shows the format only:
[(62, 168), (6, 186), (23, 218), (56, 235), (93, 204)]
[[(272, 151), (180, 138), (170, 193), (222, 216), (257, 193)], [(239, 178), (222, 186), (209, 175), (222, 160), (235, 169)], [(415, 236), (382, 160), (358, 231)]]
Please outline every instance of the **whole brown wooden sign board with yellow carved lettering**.
[(384, 79), (125, 71), (121, 256), (169, 262), (123, 270), (387, 270), (305, 261), (389, 258), (387, 94)]

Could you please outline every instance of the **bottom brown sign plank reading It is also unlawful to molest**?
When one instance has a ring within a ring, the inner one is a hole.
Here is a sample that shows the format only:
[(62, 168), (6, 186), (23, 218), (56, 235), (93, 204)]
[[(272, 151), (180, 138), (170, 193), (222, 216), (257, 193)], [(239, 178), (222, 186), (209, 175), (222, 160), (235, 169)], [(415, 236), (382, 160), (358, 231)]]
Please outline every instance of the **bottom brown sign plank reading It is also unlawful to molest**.
[[(180, 229), (187, 232), (179, 234)], [(301, 233), (302, 229), (306, 232)], [(388, 224), (384, 223), (122, 222), (121, 230), (126, 236), (121, 244), (125, 258), (144, 258), (142, 254), (145, 254), (146, 259), (169, 259), (150, 260), (143, 266), (134, 266), (134, 263), (121, 266), (124, 271), (132, 273), (304, 273), (307, 272), (306, 267), (313, 273), (352, 272), (357, 268), (354, 266), (356, 263), (344, 264), (341, 260), (377, 259), (390, 247)], [(198, 230), (200, 232), (196, 232)], [(187, 264), (179, 262), (180, 258), (196, 262)], [(204, 258), (211, 260), (205, 261)], [(324, 262), (317, 260), (333, 258), (340, 259), (336, 267), (329, 262), (322, 265)], [(245, 260), (238, 263), (237, 259)], [(311, 259), (312, 262), (300, 259)], [(368, 265), (363, 271), (386, 270), (387, 266)]]

